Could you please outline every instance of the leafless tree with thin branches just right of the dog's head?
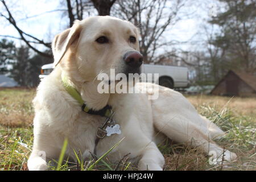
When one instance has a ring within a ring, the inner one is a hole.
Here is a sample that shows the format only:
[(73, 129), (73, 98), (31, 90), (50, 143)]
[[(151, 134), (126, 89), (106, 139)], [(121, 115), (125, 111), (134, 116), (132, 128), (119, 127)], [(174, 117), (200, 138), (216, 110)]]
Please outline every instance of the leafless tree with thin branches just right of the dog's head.
[(118, 0), (114, 15), (129, 20), (139, 27), (140, 51), (144, 61), (156, 62), (157, 50), (173, 43), (164, 39), (163, 35), (179, 20), (177, 14), (184, 3), (181, 0)]

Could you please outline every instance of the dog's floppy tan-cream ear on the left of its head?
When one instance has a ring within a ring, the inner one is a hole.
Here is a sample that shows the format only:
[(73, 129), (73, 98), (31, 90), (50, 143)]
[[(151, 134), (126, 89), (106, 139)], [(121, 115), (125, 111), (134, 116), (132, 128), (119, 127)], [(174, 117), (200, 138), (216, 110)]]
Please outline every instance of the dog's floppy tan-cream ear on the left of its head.
[[(54, 57), (54, 67), (60, 63), (68, 48), (79, 39), (82, 26), (79, 20), (76, 20), (71, 28), (56, 35), (52, 42), (52, 52)], [(76, 42), (77, 43), (77, 42)], [(72, 45), (73, 46), (73, 45)]]

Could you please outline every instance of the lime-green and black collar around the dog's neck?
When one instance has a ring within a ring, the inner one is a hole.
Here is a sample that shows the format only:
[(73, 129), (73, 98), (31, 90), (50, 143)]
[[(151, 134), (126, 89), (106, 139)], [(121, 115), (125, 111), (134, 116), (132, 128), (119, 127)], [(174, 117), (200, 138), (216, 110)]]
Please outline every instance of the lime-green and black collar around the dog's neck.
[(106, 105), (101, 110), (93, 110), (93, 109), (89, 108), (88, 106), (86, 106), (84, 100), (82, 100), (80, 93), (71, 85), (70, 80), (67, 77), (62, 76), (62, 75), (61, 75), (61, 79), (62, 79), (63, 86), (64, 86), (65, 90), (67, 90), (67, 92), (77, 102), (79, 102), (79, 104), (81, 105), (82, 111), (85, 111), (85, 113), (88, 113), (88, 114), (100, 115), (100, 116), (106, 117), (106, 118), (109, 118), (112, 115), (113, 111), (112, 111), (112, 107), (110, 105)]

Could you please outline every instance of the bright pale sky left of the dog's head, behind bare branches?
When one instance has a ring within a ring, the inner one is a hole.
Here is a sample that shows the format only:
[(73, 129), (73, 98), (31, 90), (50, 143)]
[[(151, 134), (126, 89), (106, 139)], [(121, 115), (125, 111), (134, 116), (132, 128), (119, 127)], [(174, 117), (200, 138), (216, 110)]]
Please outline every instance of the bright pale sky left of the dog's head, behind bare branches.
[[(6, 1), (13, 16), (24, 32), (31, 34), (46, 42), (51, 42), (54, 35), (65, 29), (67, 20), (61, 18), (60, 11), (46, 13), (60, 9), (58, 1), (49, 0), (9, 0)], [(0, 5), (0, 10), (3, 6)], [(33, 17), (35, 16), (35, 17)], [(31, 17), (31, 18), (30, 18)], [(19, 37), (15, 28), (7, 20), (0, 18), (0, 35), (11, 35)]]

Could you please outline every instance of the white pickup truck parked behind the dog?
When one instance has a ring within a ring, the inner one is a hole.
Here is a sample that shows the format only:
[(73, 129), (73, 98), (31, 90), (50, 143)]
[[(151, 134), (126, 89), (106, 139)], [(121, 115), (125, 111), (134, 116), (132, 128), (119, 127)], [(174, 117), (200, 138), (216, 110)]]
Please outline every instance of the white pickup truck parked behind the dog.
[[(46, 64), (42, 66), (41, 75), (42, 79), (49, 75), (53, 70), (53, 64)], [(166, 86), (168, 88), (187, 88), (188, 87), (188, 68), (185, 67), (173, 67), (166, 65), (151, 65), (143, 64), (143, 73), (158, 73), (159, 85)]]

